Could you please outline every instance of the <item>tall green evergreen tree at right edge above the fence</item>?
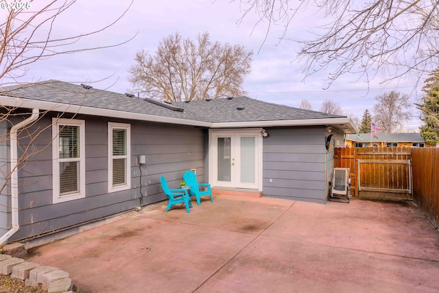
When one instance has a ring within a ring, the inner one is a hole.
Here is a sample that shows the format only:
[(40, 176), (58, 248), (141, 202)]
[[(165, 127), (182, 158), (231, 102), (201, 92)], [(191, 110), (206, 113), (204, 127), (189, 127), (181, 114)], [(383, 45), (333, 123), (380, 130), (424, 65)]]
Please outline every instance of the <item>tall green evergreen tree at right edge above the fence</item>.
[(420, 119), (424, 122), (420, 136), (426, 143), (435, 145), (439, 143), (439, 68), (425, 80), (423, 92), (425, 95), (420, 104), (416, 104), (421, 112)]

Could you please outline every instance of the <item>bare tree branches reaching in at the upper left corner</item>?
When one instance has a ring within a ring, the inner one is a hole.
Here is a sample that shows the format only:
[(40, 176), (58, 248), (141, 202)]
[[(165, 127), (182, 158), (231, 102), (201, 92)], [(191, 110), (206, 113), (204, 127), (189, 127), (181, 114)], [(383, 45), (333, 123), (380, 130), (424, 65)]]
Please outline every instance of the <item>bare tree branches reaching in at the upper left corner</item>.
[(102, 45), (102, 47), (73, 47), (73, 44), (81, 38), (91, 38), (96, 34), (106, 32), (126, 14), (131, 4), (119, 18), (99, 30), (84, 34), (67, 32), (62, 37), (54, 36), (53, 30), (57, 25), (57, 20), (62, 18), (64, 12), (69, 10), (74, 3), (75, 0), (38, 1), (38, 3), (2, 1), (2, 8), (4, 8), (3, 5), (8, 8), (2, 9), (5, 12), (5, 18), (0, 20), (2, 21), (0, 23), (0, 86), (19, 83), (19, 78), (27, 73), (27, 65), (40, 59), (115, 47), (129, 41), (124, 40), (121, 43)]

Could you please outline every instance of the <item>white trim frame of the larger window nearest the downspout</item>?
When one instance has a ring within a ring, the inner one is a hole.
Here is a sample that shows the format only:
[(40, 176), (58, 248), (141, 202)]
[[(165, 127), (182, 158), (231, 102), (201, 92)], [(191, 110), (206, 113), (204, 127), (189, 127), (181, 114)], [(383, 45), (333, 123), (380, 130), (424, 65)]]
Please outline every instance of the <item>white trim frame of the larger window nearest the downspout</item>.
[[(80, 174), (79, 192), (75, 194), (60, 195), (60, 161), (59, 158), (59, 126), (79, 126), (80, 128)], [(67, 202), (85, 198), (85, 120), (52, 118), (52, 170), (53, 170), (53, 202)]]

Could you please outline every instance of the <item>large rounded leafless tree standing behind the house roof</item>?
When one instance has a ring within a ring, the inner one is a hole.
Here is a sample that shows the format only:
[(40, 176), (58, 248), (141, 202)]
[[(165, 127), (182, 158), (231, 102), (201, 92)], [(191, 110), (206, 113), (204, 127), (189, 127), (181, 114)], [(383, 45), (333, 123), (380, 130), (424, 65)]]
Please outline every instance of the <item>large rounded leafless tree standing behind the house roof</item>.
[(196, 41), (176, 32), (161, 41), (154, 55), (137, 52), (129, 80), (135, 91), (171, 102), (244, 95), (252, 55), (241, 45), (212, 43), (207, 32)]

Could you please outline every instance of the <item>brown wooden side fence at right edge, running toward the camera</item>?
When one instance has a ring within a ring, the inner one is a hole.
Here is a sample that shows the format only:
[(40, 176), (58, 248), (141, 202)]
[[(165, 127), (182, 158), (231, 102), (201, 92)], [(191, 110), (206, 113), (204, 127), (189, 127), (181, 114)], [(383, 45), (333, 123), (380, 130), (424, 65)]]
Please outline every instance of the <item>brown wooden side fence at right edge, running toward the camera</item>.
[(439, 226), (439, 148), (413, 148), (413, 199)]

